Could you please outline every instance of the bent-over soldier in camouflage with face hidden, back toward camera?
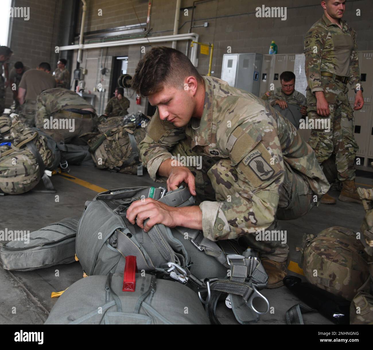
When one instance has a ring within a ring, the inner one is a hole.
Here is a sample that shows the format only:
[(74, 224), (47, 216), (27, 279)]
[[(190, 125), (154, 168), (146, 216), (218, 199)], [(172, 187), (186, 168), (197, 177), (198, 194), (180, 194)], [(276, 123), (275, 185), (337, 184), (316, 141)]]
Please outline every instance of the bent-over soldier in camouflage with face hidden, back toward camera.
[[(97, 116), (93, 106), (71, 90), (62, 88), (44, 90), (37, 97), (36, 108), (36, 127), (50, 134), (56, 142), (85, 144), (78, 136), (93, 131), (96, 124)], [(44, 126), (50, 126), (50, 122), (46, 124), (44, 120), (50, 121), (50, 118), (52, 120), (73, 119), (73, 131), (70, 131), (71, 129), (68, 129), (66, 125), (65, 128), (57, 130), (46, 129)]]

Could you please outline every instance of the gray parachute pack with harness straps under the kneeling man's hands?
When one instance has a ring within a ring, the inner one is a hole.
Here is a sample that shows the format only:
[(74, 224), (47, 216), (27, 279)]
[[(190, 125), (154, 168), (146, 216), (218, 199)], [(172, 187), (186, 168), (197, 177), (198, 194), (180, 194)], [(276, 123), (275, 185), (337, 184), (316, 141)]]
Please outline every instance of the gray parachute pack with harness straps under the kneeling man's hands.
[[(194, 204), (194, 197), (182, 186), (167, 193), (163, 187), (119, 188), (85, 203), (76, 233), (76, 256), (88, 276), (121, 272), (124, 257), (134, 255), (139, 271), (174, 279), (198, 291), (213, 323), (219, 323), (214, 315), (222, 293), (229, 294), (242, 324), (256, 322), (259, 314), (268, 312), (268, 300), (258, 292), (267, 286), (268, 276), (257, 252), (243, 251), (232, 239), (210, 241), (200, 230), (186, 227), (157, 224), (144, 232), (128, 221), (126, 210), (133, 201), (148, 197), (173, 207)], [(254, 308), (256, 297), (264, 300), (266, 311)]]

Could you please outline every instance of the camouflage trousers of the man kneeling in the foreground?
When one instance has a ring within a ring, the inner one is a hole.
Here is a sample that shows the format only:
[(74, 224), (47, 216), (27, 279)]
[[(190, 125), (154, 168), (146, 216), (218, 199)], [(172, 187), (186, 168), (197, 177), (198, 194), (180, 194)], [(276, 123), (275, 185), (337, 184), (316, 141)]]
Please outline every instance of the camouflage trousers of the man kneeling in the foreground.
[[(173, 156), (195, 156), (198, 154), (193, 152), (184, 139), (176, 144), (171, 152)], [(285, 162), (284, 162), (285, 163)], [(196, 169), (192, 166), (187, 168), (195, 176), (195, 198), (196, 205), (201, 201), (225, 201), (227, 196), (236, 195), (233, 186), (227, 186), (229, 176), (237, 179), (236, 169), (231, 166), (230, 159), (222, 159), (219, 157), (211, 158), (202, 156), (202, 168)], [(308, 185), (308, 181), (294, 169), (291, 169), (286, 164), (285, 178), (280, 194), (279, 206), (276, 212), (276, 219), (266, 230), (281, 230), (279, 220), (297, 219), (308, 213), (313, 206), (314, 194)], [(163, 178), (165, 181), (166, 178)], [(216, 193), (214, 188), (219, 188), (219, 193)], [(236, 240), (235, 240), (236, 241)], [(261, 258), (269, 258), (275, 261), (286, 261), (289, 254), (289, 246), (281, 244), (280, 241), (257, 241), (256, 234), (249, 234), (238, 238), (238, 243), (247, 248), (256, 249)]]

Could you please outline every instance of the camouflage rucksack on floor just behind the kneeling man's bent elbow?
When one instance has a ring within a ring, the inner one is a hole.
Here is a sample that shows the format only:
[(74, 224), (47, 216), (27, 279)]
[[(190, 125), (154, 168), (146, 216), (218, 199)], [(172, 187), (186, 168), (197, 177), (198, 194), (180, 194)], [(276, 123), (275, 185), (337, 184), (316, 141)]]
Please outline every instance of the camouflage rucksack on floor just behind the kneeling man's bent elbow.
[(145, 138), (146, 128), (129, 123), (120, 125), (122, 117), (108, 118), (98, 125), (98, 133), (82, 135), (90, 145), (90, 152), (97, 168), (108, 168), (125, 174), (142, 175), (138, 144)]

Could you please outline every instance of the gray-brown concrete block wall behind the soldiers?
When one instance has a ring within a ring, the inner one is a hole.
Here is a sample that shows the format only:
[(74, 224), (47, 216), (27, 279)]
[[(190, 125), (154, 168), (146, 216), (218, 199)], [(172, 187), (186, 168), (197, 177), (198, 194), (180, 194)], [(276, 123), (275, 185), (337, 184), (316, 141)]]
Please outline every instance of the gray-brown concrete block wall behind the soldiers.
[[(90, 0), (88, 1), (85, 32), (138, 24), (139, 21), (144, 23), (146, 22), (149, 1)], [(171, 35), (176, 1), (153, 0), (151, 2), (150, 28), (152, 28), (152, 36)], [(203, 1), (196, 4), (193, 25), (201, 25), (204, 22), (208, 22), (209, 26), (207, 28), (192, 28), (192, 32), (200, 35), (201, 42), (214, 44), (212, 61), (212, 71), (214, 73), (211, 75), (220, 78), (223, 54), (227, 53), (228, 46), (231, 47), (232, 53), (257, 52), (267, 54), (271, 41), (275, 40), (279, 54), (303, 52), (304, 34), (323, 14), (320, 2), (320, 0)], [(30, 6), (31, 13), (32, 7), (34, 6), (35, 8), (34, 15), (28, 21), (29, 23), (21, 19), (14, 19), (12, 48), (13, 50), (16, 49), (17, 58), (22, 58), (26, 64), (32, 64), (32, 66), (39, 63), (39, 57), (41, 56), (50, 60), (58, 59), (56, 54), (54, 54), (55, 40), (51, 28), (55, 28), (58, 25), (58, 6), (62, 6), (61, 4), (63, 4), (62, 0), (16, 0), (15, 6)], [(187, 33), (189, 30), (192, 4), (193, 0), (181, 1), (182, 8), (189, 8), (187, 16), (185, 16), (184, 10), (180, 13), (179, 34)], [(263, 4), (269, 7), (286, 6), (286, 20), (281, 20), (280, 18), (257, 18), (256, 7), (261, 7)], [(99, 16), (100, 9), (102, 10), (102, 16)], [(360, 16), (356, 15), (357, 9), (360, 9)], [(40, 15), (38, 14), (39, 10)], [(78, 17), (80, 18), (81, 15), (79, 14)], [(344, 19), (357, 31), (359, 50), (373, 50), (373, 41), (370, 40), (373, 36), (371, 18), (373, 18), (372, 0), (347, 1)], [(61, 26), (61, 23), (59, 25)], [(79, 30), (80, 23), (78, 23), (77, 28)], [(42, 40), (43, 44), (35, 40)], [(164, 43), (164, 45), (171, 46), (171, 42)], [(145, 46), (147, 48), (150, 47), (150, 45)], [(177, 48), (185, 53), (187, 48), (186, 41), (179, 41)], [(132, 75), (141, 57), (141, 45), (111, 47), (107, 51), (104, 48), (102, 60), (101, 49), (85, 50), (81, 67), (88, 69), (88, 74), (85, 77), (86, 90), (93, 92), (97, 82), (101, 82), (104, 88), (109, 88), (111, 78), (110, 65), (112, 57), (115, 55), (128, 55), (128, 73)], [(70, 71), (73, 71), (76, 67), (76, 52), (74, 57)], [(97, 70), (97, 64), (100, 70), (105, 58), (109, 72), (105, 76), (101, 76), (100, 71)], [(199, 59), (198, 71), (201, 74), (207, 74), (209, 56), (198, 53), (197, 58)], [(97, 93), (97, 96), (99, 96), (99, 93)], [(135, 105), (135, 96), (131, 96), (132, 91), (129, 91), (131, 101), (129, 111), (145, 109), (144, 99), (142, 99), (141, 106), (138, 106)], [(111, 96), (108, 96), (108, 92), (106, 92), (104, 97), (106, 103)], [(98, 99), (96, 99), (96, 102)]]

